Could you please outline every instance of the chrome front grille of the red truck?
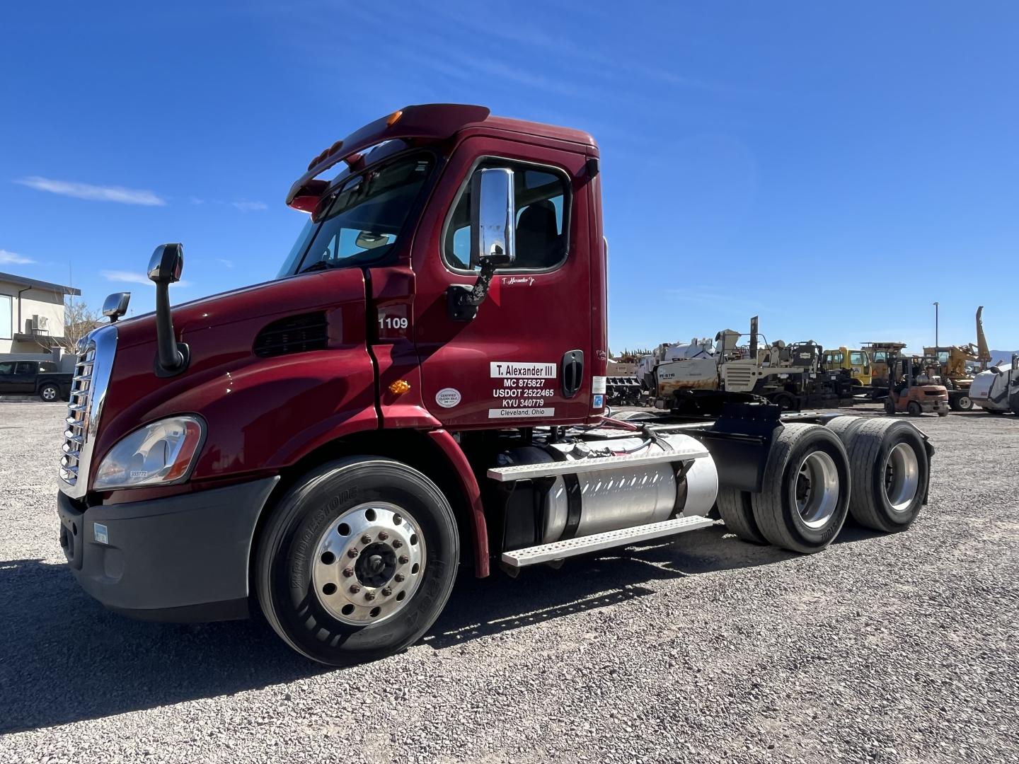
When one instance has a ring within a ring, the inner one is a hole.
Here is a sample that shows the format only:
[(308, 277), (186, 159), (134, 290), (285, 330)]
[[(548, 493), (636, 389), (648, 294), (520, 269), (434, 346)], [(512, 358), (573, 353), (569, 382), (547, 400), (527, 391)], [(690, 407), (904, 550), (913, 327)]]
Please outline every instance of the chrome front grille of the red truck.
[(113, 367), (116, 341), (117, 330), (104, 326), (90, 332), (78, 343), (60, 456), (60, 490), (74, 498), (84, 496), (89, 487), (92, 444)]

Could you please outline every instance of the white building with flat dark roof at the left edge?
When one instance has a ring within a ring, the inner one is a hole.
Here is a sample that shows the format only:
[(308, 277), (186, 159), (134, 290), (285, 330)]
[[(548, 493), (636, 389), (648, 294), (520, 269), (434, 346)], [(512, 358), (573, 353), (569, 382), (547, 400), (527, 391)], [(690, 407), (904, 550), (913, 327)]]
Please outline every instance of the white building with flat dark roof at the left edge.
[(81, 293), (72, 286), (0, 273), (0, 359), (49, 354), (59, 346), (64, 297)]

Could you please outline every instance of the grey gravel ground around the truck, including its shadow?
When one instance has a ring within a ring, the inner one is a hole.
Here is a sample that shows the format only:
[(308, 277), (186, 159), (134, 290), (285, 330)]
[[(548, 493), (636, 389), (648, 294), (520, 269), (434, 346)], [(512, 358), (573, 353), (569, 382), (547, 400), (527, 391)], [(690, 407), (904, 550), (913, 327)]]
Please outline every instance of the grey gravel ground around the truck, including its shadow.
[(108, 613), (57, 544), (63, 407), (0, 403), (0, 762), (1019, 761), (1019, 419), (924, 418), (930, 504), (821, 554), (723, 526), (463, 578), (323, 670), (260, 621)]

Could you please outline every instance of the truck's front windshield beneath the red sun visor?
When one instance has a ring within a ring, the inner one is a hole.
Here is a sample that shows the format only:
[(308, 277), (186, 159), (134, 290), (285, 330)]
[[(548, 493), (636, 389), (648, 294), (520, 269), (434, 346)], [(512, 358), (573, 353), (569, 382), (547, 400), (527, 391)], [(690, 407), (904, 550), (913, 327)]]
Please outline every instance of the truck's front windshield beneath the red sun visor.
[(430, 156), (416, 156), (344, 180), (324, 203), (324, 212), (305, 225), (278, 277), (364, 265), (385, 257), (431, 167)]

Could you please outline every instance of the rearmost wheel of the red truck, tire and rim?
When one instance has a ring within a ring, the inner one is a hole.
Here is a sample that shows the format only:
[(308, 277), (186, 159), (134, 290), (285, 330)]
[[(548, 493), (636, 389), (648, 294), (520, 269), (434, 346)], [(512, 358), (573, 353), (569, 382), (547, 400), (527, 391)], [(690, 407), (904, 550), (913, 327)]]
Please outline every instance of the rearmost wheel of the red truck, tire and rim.
[[(856, 431), (849, 447), (849, 461), (853, 473), (849, 511), (853, 520), (884, 533), (909, 528), (923, 506), (930, 479), (927, 449), (919, 431), (902, 420), (869, 420)], [(898, 484), (913, 461), (915, 483), (911, 488), (906, 483)]]

